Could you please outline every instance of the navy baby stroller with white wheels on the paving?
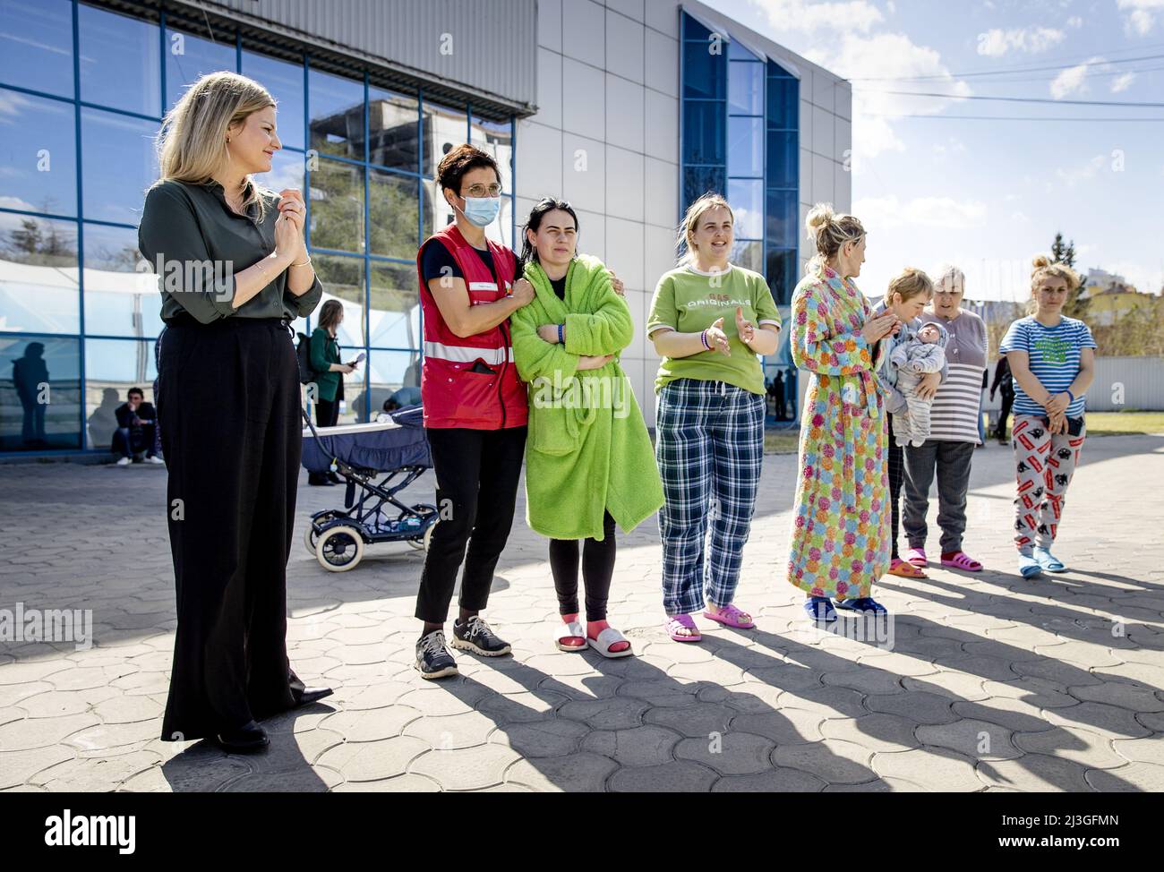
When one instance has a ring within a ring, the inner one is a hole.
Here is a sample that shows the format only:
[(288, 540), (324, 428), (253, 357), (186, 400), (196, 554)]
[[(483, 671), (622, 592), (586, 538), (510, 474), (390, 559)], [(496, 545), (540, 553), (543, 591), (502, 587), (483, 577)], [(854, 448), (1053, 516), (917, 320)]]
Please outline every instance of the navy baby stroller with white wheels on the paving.
[[(427, 551), (436, 506), (409, 506), (396, 498), (432, 466), (420, 406), (381, 414), (379, 421), (370, 424), (318, 430), (300, 411), (307, 421), (304, 468), (310, 473), (336, 472), (347, 481), (343, 509), (315, 512), (307, 526), (304, 545), (319, 565), (334, 573), (346, 572), (363, 558), (364, 546), (374, 543), (405, 541)], [(386, 473), (383, 478), (382, 473)]]

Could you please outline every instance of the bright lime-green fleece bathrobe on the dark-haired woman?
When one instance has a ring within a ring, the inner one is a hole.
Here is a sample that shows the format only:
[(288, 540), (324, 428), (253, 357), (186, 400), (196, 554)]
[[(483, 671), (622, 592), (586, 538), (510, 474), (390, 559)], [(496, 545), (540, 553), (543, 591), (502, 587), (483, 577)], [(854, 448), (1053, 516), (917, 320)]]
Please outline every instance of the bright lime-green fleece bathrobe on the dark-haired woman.
[[(651, 437), (618, 360), (581, 373), (577, 363), (630, 345), (631, 310), (597, 257), (570, 263), (565, 300), (539, 264), (526, 264), (525, 277), (535, 295), (510, 326), (517, 370), (530, 389), (526, 522), (552, 539), (602, 539), (609, 511), (630, 532), (662, 505)], [(565, 324), (566, 343), (541, 339), (545, 324)]]

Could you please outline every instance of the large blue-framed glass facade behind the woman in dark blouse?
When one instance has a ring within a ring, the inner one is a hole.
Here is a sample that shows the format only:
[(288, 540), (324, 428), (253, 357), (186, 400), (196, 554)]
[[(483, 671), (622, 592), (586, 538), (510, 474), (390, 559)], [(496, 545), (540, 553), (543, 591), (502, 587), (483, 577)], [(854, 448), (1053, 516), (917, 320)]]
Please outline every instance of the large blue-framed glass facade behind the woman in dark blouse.
[(508, 196), (489, 233), (510, 243), (513, 120), (338, 63), (144, 6), (0, 0), (0, 452), (105, 451), (128, 388), (152, 402), (161, 302), (137, 224), (154, 137), (186, 86), (217, 70), (278, 102), (283, 150), (257, 180), (304, 191), (324, 298), (345, 304), (343, 357), (368, 355), (347, 376), (341, 420), (419, 384), (416, 254), (450, 220), (433, 172), (461, 142), (490, 151)]

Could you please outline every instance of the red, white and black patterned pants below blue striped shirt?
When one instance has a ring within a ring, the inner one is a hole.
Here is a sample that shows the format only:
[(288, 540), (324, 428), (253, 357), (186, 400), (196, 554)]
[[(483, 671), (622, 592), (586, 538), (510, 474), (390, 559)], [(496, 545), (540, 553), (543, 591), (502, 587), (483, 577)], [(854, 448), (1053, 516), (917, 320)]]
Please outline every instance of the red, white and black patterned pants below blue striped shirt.
[(1087, 438), (1051, 435), (1042, 418), (1016, 414), (1010, 445), (1015, 452), (1015, 546), (1028, 556), (1034, 546), (1050, 548), (1063, 517), (1063, 503)]

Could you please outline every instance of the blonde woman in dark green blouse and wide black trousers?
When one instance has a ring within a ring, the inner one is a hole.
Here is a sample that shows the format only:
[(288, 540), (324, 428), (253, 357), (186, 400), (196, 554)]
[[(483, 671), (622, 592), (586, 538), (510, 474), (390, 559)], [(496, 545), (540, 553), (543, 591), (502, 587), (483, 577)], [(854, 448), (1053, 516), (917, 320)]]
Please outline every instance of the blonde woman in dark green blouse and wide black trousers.
[(332, 693), (305, 687), (288, 662), (303, 442), (290, 324), (324, 289), (301, 192), (251, 178), (279, 148), (262, 85), (203, 76), (162, 122), (137, 232), (142, 256), (164, 269), (157, 411), (178, 629), (162, 740), (213, 736), (230, 752), (265, 747), (257, 721)]

